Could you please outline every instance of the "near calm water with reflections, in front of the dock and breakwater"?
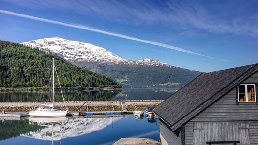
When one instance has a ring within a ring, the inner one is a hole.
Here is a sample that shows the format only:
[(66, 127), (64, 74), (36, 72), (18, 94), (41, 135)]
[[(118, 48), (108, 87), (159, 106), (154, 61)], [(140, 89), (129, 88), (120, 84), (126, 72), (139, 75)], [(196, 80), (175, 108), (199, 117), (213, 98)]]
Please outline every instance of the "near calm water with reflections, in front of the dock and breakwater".
[(127, 137), (159, 141), (158, 119), (132, 115), (23, 119), (0, 118), (0, 145), (51, 145), (52, 141), (53, 145), (112, 145)]

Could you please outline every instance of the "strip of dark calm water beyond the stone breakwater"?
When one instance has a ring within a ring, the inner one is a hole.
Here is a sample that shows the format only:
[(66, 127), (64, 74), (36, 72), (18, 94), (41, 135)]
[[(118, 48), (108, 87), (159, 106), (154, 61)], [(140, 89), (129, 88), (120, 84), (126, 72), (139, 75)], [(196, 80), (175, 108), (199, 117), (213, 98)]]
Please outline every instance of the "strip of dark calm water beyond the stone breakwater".
[[(66, 101), (165, 100), (178, 89), (63, 90), (63, 93)], [(50, 101), (49, 96), (49, 91), (8, 91), (0, 92), (0, 102)], [(55, 91), (55, 101), (62, 101), (61, 91)]]

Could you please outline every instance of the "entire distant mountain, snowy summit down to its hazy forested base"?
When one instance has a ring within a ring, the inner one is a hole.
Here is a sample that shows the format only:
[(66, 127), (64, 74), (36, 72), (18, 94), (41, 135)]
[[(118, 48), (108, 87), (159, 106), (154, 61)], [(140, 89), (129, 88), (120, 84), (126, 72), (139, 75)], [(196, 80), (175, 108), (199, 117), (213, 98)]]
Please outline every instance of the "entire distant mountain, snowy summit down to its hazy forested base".
[(56, 53), (72, 64), (115, 79), (122, 87), (182, 87), (202, 73), (155, 59), (126, 60), (102, 47), (57, 37), (21, 44)]

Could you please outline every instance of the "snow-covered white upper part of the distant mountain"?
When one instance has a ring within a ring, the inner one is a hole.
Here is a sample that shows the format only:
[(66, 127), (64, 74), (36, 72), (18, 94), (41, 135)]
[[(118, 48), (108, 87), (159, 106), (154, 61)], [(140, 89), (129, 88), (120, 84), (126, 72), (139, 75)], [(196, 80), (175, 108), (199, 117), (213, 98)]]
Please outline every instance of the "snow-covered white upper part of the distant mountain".
[(126, 60), (102, 47), (63, 38), (45, 38), (21, 43), (30, 47), (56, 53), (71, 63), (95, 62), (100, 64), (126, 64), (174, 67), (154, 59)]

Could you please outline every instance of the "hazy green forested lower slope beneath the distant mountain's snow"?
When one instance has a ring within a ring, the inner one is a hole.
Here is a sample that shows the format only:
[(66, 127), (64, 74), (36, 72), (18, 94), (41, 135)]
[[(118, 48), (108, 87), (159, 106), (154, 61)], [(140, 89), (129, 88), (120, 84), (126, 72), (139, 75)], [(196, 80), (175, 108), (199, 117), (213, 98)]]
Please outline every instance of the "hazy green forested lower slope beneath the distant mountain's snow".
[(120, 83), (122, 87), (182, 87), (202, 73), (179, 67), (121, 64), (88, 63), (84, 68), (109, 76)]

